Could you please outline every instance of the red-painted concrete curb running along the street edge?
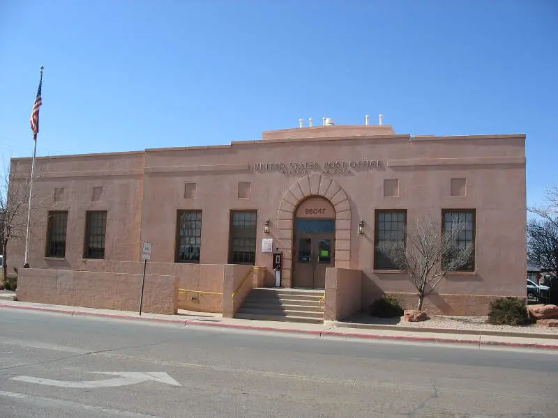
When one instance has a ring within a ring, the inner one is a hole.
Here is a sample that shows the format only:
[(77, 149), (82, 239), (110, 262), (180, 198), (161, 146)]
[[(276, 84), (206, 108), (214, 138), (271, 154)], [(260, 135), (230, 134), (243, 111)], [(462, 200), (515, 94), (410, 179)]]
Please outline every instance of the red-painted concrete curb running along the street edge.
[[(115, 318), (115, 319), (125, 319), (125, 320), (140, 320), (140, 321), (151, 321), (159, 323), (174, 323), (181, 326), (194, 325), (203, 327), (218, 327), (218, 328), (228, 328), (236, 330), (252, 330), (252, 331), (264, 331), (264, 332), (286, 332), (289, 334), (306, 334), (315, 336), (333, 336), (341, 338), (359, 338), (359, 339), (384, 339), (384, 340), (398, 340), (398, 341), (415, 341), (415, 342), (430, 342), (430, 343), (455, 343), (455, 344), (469, 344), (475, 346), (506, 346), (506, 347), (518, 347), (518, 348), (543, 348), (548, 350), (558, 350), (558, 344), (538, 344), (538, 343), (511, 343), (506, 341), (481, 341), (481, 334), (479, 332), (474, 332), (475, 334), (468, 333), (472, 336), (478, 336), (479, 339), (444, 339), (434, 336), (405, 336), (405, 335), (381, 335), (381, 334), (361, 334), (358, 332), (339, 332), (331, 330), (300, 330), (296, 328), (274, 328), (274, 327), (262, 327), (260, 325), (240, 325), (240, 324), (225, 324), (225, 323), (214, 323), (206, 322), (203, 320), (195, 319), (174, 319), (174, 318), (153, 318), (150, 316), (127, 316), (121, 314), (105, 314), (103, 312), (86, 312), (86, 311), (76, 311), (72, 309), (56, 309), (51, 307), (25, 307), (17, 306), (14, 304), (2, 304), (0, 303), (0, 308), (12, 308), (12, 309), (23, 309), (28, 311), (44, 311), (53, 312), (57, 314), (68, 314), (71, 316), (100, 316), (104, 318)], [(372, 325), (378, 327), (378, 325)], [(351, 328), (343, 327), (342, 328)], [(356, 327), (353, 327), (356, 328)], [(393, 328), (393, 327), (391, 327)], [(386, 328), (377, 328), (379, 330), (386, 330)], [(423, 328), (423, 330), (425, 330)], [(435, 328), (426, 329), (429, 331), (423, 332), (436, 332), (439, 334), (449, 334), (451, 330), (435, 330)], [(435, 331), (432, 331), (435, 330)], [(397, 331), (416, 331), (414, 328), (410, 327), (398, 327)], [(458, 334), (458, 332), (451, 332), (453, 334)], [(504, 333), (511, 334), (511, 333)], [(488, 334), (483, 334), (488, 335)], [(537, 334), (538, 335), (538, 334)], [(546, 335), (546, 334), (545, 334)], [(506, 335), (504, 335), (506, 336)], [(518, 336), (517, 334), (511, 334), (511, 336)], [(532, 338), (532, 337), (531, 337)], [(548, 338), (548, 337), (547, 337)]]

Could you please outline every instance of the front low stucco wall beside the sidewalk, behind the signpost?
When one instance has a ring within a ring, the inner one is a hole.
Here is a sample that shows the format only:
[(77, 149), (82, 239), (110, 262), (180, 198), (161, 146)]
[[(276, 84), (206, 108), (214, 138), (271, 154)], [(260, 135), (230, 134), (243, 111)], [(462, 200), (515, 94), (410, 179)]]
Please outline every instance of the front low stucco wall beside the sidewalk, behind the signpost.
[[(139, 311), (142, 274), (21, 269), (17, 300), (98, 309)], [(176, 276), (146, 274), (142, 311), (176, 314)]]

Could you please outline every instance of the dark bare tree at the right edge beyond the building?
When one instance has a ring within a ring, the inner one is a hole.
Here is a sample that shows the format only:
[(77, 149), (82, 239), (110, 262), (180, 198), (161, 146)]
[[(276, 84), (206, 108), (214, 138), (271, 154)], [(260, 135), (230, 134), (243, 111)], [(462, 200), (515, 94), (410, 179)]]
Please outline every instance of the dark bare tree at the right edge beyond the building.
[(527, 254), (542, 270), (558, 272), (558, 186), (550, 187), (542, 207), (529, 208), (538, 215), (527, 224)]

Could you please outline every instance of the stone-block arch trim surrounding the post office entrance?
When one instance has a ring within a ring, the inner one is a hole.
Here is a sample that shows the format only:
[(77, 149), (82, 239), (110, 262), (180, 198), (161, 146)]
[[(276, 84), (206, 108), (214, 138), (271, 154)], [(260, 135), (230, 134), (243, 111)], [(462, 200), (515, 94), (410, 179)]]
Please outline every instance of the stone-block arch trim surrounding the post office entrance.
[(282, 196), (277, 216), (277, 247), (283, 251), (282, 286), (292, 287), (292, 249), (294, 213), (310, 196), (322, 196), (335, 209), (335, 267), (349, 268), (351, 248), (351, 206), (345, 190), (323, 173), (311, 173), (290, 185)]

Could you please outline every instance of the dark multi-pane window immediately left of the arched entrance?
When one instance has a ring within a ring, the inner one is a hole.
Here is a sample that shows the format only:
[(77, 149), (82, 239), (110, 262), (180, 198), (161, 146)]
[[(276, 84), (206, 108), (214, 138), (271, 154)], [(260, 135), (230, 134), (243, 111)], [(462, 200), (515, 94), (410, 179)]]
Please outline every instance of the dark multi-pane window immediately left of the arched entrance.
[(229, 263), (255, 264), (256, 221), (255, 210), (231, 212)]

